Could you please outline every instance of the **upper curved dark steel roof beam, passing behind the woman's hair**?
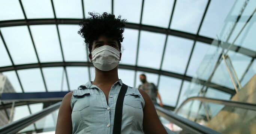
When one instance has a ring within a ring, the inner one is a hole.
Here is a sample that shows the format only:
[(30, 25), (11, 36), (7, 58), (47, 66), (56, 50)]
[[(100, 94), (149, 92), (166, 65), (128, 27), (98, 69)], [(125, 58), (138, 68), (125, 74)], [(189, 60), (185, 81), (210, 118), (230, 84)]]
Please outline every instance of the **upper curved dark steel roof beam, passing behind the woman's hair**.
[[(48, 25), (48, 24), (70, 24), (70, 25), (78, 25), (81, 19), (27, 19), (27, 20), (5, 20), (0, 21), (0, 28), (7, 26), (24, 26), (24, 25)], [(160, 28), (156, 26), (148, 26), (142, 24), (135, 23), (126, 23), (126, 28), (138, 29), (144, 31), (151, 31), (157, 33), (163, 33), (167, 35), (178, 36), (182, 38), (192, 39), (195, 41), (204, 42), (206, 44), (211, 44), (214, 39), (208, 38), (201, 35), (195, 35), (192, 33), (177, 31), (168, 28)], [(213, 44), (217, 45), (217, 44)], [(229, 44), (223, 44), (223, 48), (228, 48)], [(239, 52), (241, 54), (250, 56), (255, 58), (256, 52), (249, 50), (247, 48), (243, 48), (237, 45), (233, 45), (230, 49), (231, 51)]]

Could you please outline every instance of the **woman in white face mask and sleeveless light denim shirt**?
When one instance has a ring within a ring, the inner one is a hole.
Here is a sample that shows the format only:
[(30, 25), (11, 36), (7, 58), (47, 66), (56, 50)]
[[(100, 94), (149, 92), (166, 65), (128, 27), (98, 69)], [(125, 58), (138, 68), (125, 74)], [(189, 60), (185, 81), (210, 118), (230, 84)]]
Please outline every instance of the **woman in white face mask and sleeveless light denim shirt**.
[[(121, 16), (90, 13), (78, 31), (89, 48), (95, 68), (93, 82), (64, 96), (58, 113), (56, 134), (112, 134), (115, 106), (123, 82), (118, 78), (124, 22)], [(143, 90), (128, 86), (123, 100), (121, 133), (164, 134), (154, 105)]]

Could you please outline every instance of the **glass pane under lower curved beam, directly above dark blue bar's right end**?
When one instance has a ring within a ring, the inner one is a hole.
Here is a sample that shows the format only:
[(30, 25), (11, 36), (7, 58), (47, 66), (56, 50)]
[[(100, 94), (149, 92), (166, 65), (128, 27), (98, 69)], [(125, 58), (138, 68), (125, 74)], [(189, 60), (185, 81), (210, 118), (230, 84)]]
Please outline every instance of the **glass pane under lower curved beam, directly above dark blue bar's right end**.
[(67, 91), (66, 74), (63, 67), (42, 68), (48, 92)]

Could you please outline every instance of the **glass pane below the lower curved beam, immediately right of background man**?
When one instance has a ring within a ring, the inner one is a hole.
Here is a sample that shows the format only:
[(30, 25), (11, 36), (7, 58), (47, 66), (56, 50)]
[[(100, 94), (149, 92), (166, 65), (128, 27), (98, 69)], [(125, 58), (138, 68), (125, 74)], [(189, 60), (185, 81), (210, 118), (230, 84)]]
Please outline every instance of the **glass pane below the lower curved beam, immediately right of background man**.
[(158, 92), (162, 98), (164, 105), (175, 106), (180, 91), (181, 80), (168, 77), (160, 76), (160, 82)]

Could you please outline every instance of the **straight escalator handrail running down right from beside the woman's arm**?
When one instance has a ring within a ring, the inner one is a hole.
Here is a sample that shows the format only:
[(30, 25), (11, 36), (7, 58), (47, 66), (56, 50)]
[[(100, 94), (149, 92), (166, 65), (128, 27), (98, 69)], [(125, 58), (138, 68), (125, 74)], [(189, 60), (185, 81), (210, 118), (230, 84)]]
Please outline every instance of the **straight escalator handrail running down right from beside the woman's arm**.
[(220, 134), (217, 131), (214, 131), (210, 128), (202, 126), (196, 122), (190, 121), (189, 119), (180, 117), (179, 115), (174, 114), (174, 112), (166, 110), (158, 105), (155, 105), (155, 108), (158, 115), (168, 119), (175, 125), (178, 125), (183, 130), (191, 134)]

